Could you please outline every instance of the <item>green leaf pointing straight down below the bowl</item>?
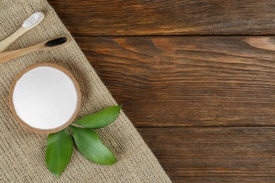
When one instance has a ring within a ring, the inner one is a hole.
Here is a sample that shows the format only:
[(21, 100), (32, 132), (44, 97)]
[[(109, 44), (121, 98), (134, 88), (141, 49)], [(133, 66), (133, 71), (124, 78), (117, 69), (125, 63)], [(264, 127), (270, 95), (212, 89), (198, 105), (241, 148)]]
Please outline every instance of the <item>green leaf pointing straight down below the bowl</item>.
[(68, 130), (64, 129), (49, 134), (46, 150), (47, 168), (56, 177), (60, 177), (71, 160), (73, 153), (73, 139)]

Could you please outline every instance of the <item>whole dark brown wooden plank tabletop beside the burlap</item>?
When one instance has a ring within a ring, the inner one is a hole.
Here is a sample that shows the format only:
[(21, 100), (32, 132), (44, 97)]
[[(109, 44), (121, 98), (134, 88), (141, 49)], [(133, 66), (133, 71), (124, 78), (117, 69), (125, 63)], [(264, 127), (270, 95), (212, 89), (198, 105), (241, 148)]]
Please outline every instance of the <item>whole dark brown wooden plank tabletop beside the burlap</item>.
[(49, 3), (173, 182), (275, 182), (275, 1)]

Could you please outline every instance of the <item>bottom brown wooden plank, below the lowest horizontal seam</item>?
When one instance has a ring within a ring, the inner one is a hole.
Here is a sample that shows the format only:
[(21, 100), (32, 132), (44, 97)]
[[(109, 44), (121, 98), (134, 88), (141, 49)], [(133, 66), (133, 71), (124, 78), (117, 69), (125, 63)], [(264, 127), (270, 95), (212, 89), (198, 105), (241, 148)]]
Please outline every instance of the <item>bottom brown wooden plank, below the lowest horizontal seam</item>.
[(173, 182), (274, 182), (274, 127), (138, 131)]

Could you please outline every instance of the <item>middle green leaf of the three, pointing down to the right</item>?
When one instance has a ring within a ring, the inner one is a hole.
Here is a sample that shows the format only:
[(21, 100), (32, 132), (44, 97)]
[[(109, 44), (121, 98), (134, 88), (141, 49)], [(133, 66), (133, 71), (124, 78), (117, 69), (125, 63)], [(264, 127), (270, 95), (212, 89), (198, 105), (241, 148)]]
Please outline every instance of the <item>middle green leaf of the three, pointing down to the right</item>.
[(75, 145), (85, 158), (101, 165), (116, 163), (116, 156), (102, 144), (97, 132), (73, 126), (70, 126), (70, 129), (73, 132)]

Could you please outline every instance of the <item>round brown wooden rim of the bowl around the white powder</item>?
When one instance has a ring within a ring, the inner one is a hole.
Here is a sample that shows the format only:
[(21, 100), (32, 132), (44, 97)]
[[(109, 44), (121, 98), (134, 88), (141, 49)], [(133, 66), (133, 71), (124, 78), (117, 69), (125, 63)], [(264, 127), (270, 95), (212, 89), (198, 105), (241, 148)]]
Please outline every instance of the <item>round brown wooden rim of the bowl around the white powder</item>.
[[(76, 90), (77, 96), (78, 96), (78, 101), (76, 103), (75, 112), (73, 113), (71, 118), (67, 122), (65, 122), (63, 125), (56, 127), (56, 128), (49, 129), (49, 130), (39, 129), (39, 128), (35, 128), (35, 127), (28, 125), (26, 122), (24, 122), (18, 116), (18, 114), (16, 113), (16, 108), (13, 105), (13, 92), (14, 92), (14, 89), (16, 87), (18, 80), (20, 80), (20, 78), (23, 77), (23, 75), (25, 75), (25, 73), (29, 72), (30, 70), (33, 70), (35, 68), (40, 68), (40, 67), (55, 68), (57, 70), (60, 70), (64, 74), (66, 74), (68, 77), (70, 77), (70, 79), (72, 80), (72, 82), (75, 86), (75, 90)], [(59, 132), (59, 131), (65, 129), (66, 127), (68, 127), (68, 125), (71, 125), (73, 120), (75, 120), (76, 116), (78, 115), (78, 112), (80, 111), (81, 97), (82, 97), (82, 95), (81, 95), (80, 85), (79, 85), (78, 81), (75, 79), (73, 74), (71, 72), (69, 72), (66, 68), (63, 68), (61, 65), (57, 65), (55, 63), (37, 63), (35, 65), (31, 65), (28, 68), (25, 68), (23, 71), (21, 71), (17, 75), (16, 79), (13, 81), (13, 84), (11, 85), (11, 90), (9, 92), (9, 103), (10, 103), (10, 107), (11, 107), (11, 112), (13, 113), (16, 120), (20, 123), (20, 125), (23, 125), (23, 127), (27, 128), (27, 130), (30, 130), (32, 132), (37, 132), (40, 134), (52, 134), (52, 133)]]

